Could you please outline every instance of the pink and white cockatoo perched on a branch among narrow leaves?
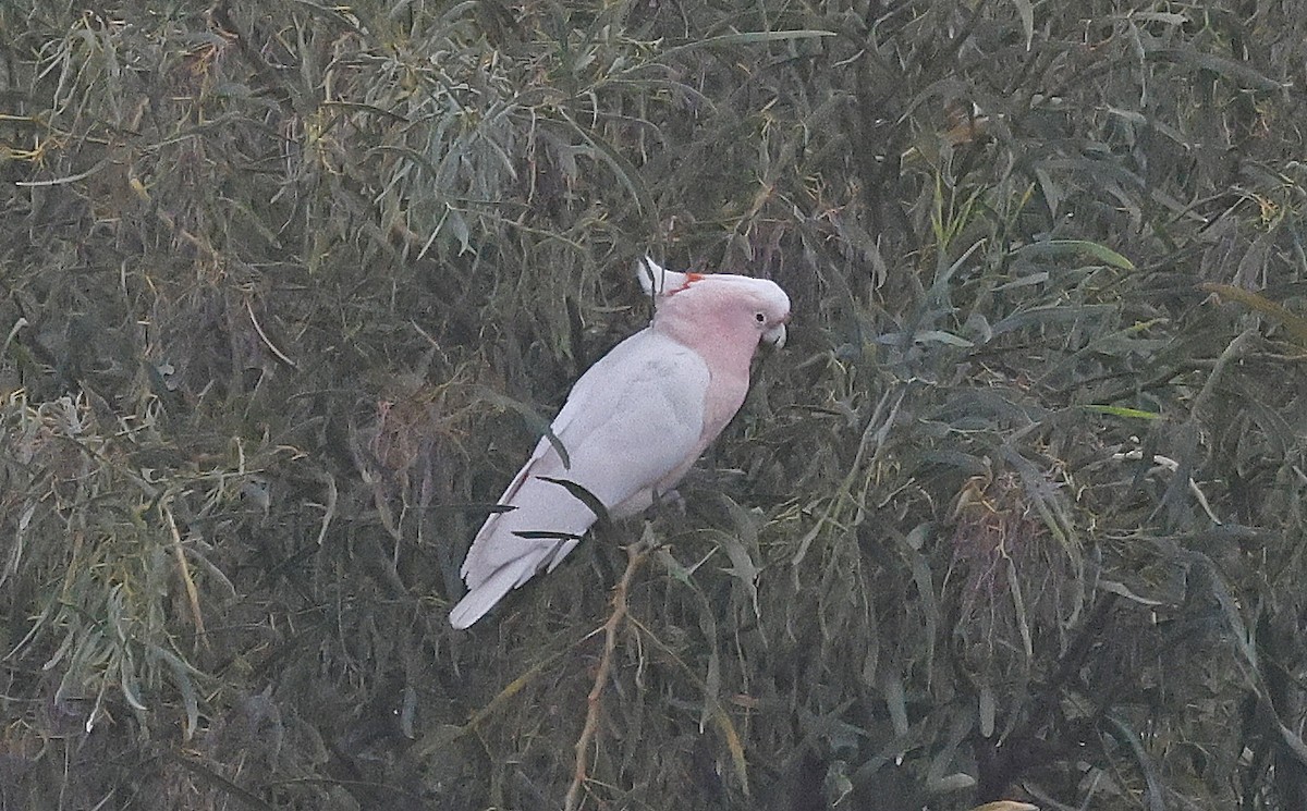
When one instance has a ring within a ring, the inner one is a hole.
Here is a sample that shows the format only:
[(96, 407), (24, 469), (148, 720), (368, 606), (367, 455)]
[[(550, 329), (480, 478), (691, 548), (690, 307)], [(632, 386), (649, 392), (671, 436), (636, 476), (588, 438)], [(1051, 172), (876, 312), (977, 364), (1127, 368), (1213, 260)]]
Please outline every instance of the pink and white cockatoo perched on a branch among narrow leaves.
[(638, 270), (652, 323), (580, 376), (553, 436), (541, 437), (501, 496), (512, 509), (481, 526), (463, 562), (468, 593), (450, 611), (455, 628), (567, 556), (597, 518), (584, 492), (613, 518), (668, 494), (740, 410), (759, 342), (786, 342), (789, 296), (775, 282), (676, 273), (651, 259)]

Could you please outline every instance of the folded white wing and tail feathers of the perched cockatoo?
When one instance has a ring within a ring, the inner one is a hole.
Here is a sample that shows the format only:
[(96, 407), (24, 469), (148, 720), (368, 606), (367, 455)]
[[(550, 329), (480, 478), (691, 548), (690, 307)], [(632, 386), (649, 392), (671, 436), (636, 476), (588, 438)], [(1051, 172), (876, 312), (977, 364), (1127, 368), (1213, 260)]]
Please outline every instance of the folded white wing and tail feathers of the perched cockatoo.
[(514, 509), (491, 515), (468, 550), (468, 594), (450, 623), (471, 626), (541, 568), (558, 565), (595, 522), (583, 500), (546, 478), (580, 485), (614, 517), (648, 507), (657, 483), (702, 449), (708, 381), (697, 353), (652, 329), (582, 375), (550, 426), (569, 464), (549, 437), (537, 443), (499, 499)]

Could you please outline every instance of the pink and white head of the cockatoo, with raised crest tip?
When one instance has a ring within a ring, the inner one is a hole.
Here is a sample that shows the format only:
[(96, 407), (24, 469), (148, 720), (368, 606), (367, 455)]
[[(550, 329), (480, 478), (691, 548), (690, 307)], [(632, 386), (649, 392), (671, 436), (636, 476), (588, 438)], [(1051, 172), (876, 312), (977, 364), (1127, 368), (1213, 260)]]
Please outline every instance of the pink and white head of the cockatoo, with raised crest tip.
[(646, 257), (640, 286), (654, 298), (655, 328), (689, 345), (720, 341), (752, 354), (766, 341), (786, 345), (789, 296), (765, 278), (732, 273), (677, 273)]

